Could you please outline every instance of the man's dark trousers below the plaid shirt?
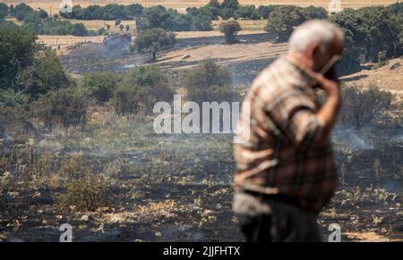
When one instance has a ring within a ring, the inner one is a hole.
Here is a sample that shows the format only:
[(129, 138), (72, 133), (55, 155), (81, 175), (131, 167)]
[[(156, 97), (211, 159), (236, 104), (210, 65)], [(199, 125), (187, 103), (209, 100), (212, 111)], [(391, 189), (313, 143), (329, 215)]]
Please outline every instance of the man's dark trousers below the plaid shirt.
[(275, 199), (236, 194), (234, 211), (247, 242), (317, 242), (316, 214)]

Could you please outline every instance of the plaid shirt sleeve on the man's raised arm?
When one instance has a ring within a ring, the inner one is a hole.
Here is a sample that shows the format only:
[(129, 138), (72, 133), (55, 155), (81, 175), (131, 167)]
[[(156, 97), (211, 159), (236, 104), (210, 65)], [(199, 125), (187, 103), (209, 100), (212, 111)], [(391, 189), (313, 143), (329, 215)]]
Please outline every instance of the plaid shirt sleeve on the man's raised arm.
[(323, 124), (315, 111), (314, 102), (297, 89), (272, 98), (266, 108), (280, 134), (301, 149), (313, 147), (320, 138)]

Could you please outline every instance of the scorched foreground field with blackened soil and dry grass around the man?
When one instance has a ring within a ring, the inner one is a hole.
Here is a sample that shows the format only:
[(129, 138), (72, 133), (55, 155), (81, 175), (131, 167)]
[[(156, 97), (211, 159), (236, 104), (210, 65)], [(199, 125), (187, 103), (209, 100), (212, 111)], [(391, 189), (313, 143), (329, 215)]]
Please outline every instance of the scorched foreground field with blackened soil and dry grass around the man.
[[(2, 239), (56, 241), (67, 222), (76, 241), (243, 240), (231, 211), (230, 137), (157, 136), (150, 119), (108, 119), (25, 144), (10, 133), (2, 143), (2, 167), (13, 172), (1, 179)], [(402, 139), (378, 141), (336, 146), (339, 189), (319, 219), (323, 239), (330, 223), (345, 240), (402, 239)]]

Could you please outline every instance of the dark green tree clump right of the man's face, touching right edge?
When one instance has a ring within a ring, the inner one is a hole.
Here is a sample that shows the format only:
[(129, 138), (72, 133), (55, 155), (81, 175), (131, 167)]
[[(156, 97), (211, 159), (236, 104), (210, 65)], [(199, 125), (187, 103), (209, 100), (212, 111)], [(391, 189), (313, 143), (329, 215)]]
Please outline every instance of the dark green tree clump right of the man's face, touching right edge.
[(360, 56), (368, 62), (377, 62), (380, 53), (385, 58), (403, 54), (400, 42), (403, 14), (399, 13), (398, 6), (346, 8), (330, 16), (330, 21), (337, 23), (346, 34), (346, 50), (340, 66), (344, 71), (359, 70)]

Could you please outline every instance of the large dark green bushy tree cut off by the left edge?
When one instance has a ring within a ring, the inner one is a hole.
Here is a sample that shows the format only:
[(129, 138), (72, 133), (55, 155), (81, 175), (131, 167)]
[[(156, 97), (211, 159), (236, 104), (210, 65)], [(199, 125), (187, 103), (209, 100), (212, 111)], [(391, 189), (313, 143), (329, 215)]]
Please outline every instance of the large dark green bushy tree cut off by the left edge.
[(0, 88), (12, 88), (30, 100), (72, 83), (56, 52), (37, 44), (36, 39), (16, 25), (0, 27)]

